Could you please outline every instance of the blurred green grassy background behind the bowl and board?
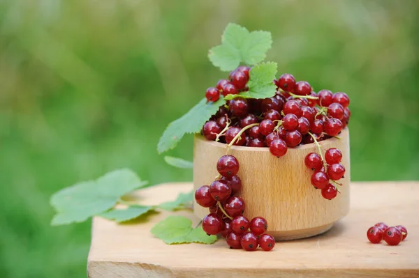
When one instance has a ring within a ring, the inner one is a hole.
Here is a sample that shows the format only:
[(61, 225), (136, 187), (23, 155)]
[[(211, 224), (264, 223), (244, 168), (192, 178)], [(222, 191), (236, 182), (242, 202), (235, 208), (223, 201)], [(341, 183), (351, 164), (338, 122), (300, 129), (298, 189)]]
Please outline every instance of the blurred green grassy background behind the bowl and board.
[[(419, 180), (419, 1), (0, 2), (0, 276), (84, 277), (90, 223), (50, 227), (50, 195), (157, 155), (166, 125), (226, 73), (228, 22), (272, 32), (268, 61), (351, 97), (353, 180)], [(191, 137), (169, 154), (191, 159)]]

